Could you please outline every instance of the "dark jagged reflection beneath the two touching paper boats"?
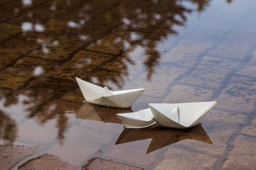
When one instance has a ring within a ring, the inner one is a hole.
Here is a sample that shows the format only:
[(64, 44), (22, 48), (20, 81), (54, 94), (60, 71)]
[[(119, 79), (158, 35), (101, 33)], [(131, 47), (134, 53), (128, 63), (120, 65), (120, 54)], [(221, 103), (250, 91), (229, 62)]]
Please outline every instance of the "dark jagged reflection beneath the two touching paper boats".
[(156, 126), (145, 129), (124, 129), (117, 139), (116, 145), (145, 139), (152, 139), (149, 146), (143, 145), (145, 147), (148, 146), (147, 153), (185, 139), (212, 144), (211, 138), (209, 138), (202, 125), (197, 125), (191, 129), (164, 129)]

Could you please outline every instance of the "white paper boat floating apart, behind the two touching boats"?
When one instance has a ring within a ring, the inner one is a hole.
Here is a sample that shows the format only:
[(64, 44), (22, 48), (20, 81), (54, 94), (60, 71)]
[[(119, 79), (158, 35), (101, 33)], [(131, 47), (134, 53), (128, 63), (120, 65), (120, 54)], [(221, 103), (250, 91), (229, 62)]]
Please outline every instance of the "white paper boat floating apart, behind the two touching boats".
[(88, 103), (114, 108), (130, 108), (145, 89), (111, 91), (76, 77), (76, 81)]

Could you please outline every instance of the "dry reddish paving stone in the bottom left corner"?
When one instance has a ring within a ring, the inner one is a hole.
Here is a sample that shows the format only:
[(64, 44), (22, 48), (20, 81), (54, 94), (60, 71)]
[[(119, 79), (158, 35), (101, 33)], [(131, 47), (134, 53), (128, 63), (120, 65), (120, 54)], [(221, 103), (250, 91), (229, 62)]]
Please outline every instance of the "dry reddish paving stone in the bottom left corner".
[(7, 170), (17, 164), (20, 160), (36, 152), (37, 147), (20, 145), (0, 145), (0, 166)]

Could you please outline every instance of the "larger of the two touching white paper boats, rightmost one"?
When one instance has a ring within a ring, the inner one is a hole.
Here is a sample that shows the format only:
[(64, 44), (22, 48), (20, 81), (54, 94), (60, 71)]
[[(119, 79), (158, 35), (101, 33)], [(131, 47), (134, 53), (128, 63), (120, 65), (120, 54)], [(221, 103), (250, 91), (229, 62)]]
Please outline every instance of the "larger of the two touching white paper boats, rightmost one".
[(207, 111), (216, 104), (216, 101), (198, 103), (150, 103), (156, 124), (161, 127), (186, 129), (200, 124)]

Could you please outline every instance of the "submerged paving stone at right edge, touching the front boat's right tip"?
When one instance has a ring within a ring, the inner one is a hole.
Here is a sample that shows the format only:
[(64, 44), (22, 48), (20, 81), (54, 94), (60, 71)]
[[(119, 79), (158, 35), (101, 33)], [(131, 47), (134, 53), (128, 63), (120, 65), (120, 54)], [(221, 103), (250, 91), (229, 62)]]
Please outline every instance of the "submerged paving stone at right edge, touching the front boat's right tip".
[(227, 87), (216, 98), (218, 108), (250, 113), (254, 109), (256, 97), (255, 80), (234, 76)]

